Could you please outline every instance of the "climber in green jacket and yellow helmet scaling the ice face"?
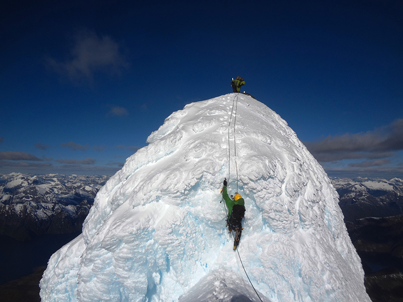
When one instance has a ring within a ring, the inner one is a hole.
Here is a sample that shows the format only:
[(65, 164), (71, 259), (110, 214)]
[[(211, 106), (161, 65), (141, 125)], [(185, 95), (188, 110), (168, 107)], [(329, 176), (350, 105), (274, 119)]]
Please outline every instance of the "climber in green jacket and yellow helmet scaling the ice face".
[(224, 186), (222, 189), (223, 198), (228, 207), (227, 226), (228, 231), (231, 233), (235, 231), (234, 250), (238, 247), (239, 240), (242, 234), (242, 219), (245, 214), (245, 201), (239, 193), (235, 193), (234, 199), (228, 196), (227, 193), (227, 179), (224, 179)]

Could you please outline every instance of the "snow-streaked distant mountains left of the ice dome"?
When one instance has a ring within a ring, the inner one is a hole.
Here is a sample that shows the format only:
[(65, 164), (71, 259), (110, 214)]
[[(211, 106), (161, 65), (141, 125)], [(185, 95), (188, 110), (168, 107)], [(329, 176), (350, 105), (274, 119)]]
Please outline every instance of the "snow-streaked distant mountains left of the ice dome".
[(109, 176), (0, 175), (0, 235), (29, 240), (80, 231)]

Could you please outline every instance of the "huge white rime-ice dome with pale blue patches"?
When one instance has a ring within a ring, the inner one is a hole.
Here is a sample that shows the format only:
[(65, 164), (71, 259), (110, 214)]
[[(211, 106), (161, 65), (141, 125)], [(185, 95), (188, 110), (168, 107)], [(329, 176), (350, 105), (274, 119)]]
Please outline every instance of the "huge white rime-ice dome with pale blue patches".
[[(190, 103), (147, 142), (49, 259), (42, 301), (370, 301), (337, 192), (266, 105)], [(224, 178), (245, 199), (235, 252)]]

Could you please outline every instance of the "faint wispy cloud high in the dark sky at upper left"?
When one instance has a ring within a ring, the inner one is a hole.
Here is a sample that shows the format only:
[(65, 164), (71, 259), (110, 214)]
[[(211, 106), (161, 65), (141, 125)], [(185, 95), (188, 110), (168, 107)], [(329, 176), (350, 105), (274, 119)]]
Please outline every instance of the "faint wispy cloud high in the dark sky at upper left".
[(90, 82), (97, 71), (120, 74), (129, 65), (118, 43), (109, 36), (98, 36), (90, 30), (82, 30), (74, 36), (68, 59), (48, 58), (47, 63), (73, 81), (85, 78)]

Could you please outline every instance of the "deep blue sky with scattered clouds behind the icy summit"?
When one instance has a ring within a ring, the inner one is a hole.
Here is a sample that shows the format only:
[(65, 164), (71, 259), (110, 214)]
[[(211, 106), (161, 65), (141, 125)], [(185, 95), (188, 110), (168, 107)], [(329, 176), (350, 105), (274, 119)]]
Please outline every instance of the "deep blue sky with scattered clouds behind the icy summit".
[(330, 176), (403, 178), (400, 1), (15, 1), (0, 173), (113, 174), (173, 111), (243, 90)]

